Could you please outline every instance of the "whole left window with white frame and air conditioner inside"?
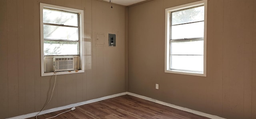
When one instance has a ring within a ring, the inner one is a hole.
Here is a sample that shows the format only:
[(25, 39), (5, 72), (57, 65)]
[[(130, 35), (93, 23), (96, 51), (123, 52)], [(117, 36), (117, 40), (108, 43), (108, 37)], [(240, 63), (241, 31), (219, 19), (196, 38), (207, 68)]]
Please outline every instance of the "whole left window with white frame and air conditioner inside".
[(84, 72), (83, 14), (83, 10), (40, 3), (42, 76)]

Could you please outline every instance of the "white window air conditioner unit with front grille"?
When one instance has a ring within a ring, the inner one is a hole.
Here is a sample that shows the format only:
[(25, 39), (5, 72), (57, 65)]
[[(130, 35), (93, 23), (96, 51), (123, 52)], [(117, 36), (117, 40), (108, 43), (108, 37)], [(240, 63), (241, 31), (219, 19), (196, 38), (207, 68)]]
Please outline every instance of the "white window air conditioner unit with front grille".
[(69, 71), (74, 70), (74, 57), (54, 57), (54, 71)]

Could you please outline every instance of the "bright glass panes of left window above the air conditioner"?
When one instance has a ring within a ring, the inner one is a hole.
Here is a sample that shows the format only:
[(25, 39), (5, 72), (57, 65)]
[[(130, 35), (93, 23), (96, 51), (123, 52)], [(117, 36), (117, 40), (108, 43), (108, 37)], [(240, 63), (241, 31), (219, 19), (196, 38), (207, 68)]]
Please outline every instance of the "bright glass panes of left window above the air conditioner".
[(80, 55), (79, 13), (43, 9), (44, 56)]

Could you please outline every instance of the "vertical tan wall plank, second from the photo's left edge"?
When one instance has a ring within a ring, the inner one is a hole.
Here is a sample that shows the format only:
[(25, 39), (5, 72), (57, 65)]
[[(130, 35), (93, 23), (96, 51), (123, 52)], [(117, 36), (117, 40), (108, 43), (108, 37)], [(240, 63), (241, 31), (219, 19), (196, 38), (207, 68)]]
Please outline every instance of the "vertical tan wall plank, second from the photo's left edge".
[(8, 110), (10, 117), (18, 115), (18, 36), (17, 0), (7, 0)]

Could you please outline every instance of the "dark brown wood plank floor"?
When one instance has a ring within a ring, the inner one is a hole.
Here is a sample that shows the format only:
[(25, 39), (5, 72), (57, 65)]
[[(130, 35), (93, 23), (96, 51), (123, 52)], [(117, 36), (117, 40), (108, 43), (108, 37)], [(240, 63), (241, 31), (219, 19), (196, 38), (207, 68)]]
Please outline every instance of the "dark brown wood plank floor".
[[(39, 115), (38, 119), (55, 116), (63, 111)], [(31, 117), (28, 119), (36, 119)], [(124, 95), (95, 103), (81, 105), (74, 111), (52, 119), (209, 119), (151, 101)]]

